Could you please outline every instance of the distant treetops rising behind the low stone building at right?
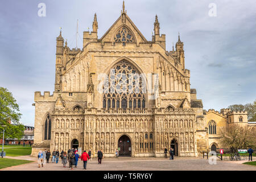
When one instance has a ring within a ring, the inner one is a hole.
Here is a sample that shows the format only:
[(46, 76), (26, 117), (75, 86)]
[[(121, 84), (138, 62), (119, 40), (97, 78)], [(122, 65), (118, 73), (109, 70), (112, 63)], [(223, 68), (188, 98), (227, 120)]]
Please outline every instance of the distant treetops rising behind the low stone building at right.
[(245, 105), (235, 104), (230, 105), (228, 108), (232, 111), (247, 111), (248, 121), (256, 121), (256, 100), (253, 103), (248, 103)]

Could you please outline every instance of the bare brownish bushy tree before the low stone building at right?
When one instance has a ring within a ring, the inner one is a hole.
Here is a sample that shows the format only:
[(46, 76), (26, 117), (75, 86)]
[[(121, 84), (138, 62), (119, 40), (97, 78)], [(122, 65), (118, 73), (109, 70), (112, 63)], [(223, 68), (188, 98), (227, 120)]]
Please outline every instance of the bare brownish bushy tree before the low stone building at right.
[(231, 150), (246, 149), (249, 146), (256, 147), (256, 133), (250, 127), (233, 125), (220, 132), (220, 143)]

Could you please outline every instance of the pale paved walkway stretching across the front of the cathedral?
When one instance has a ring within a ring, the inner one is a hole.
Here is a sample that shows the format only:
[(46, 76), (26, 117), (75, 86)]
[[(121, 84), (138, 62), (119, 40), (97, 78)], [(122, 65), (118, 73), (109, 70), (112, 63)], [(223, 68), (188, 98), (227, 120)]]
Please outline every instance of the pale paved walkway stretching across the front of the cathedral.
[[(0, 171), (71, 171), (71, 168), (63, 168), (63, 164), (60, 163), (48, 163), (44, 167), (38, 168), (38, 162), (35, 157), (31, 156), (19, 156), (19, 157), (6, 157), (11, 159), (25, 159), (25, 160), (34, 160), (33, 163), (22, 164), (19, 166), (13, 166), (8, 168), (0, 169)], [(192, 170), (192, 171), (256, 171), (255, 166), (241, 164), (246, 162), (245, 160), (237, 161), (221, 161), (217, 160), (216, 165), (210, 165), (207, 159), (201, 158), (175, 158), (175, 160), (168, 160), (164, 158), (124, 158), (119, 157), (118, 159), (114, 158), (105, 158), (102, 160), (102, 164), (98, 164), (97, 159), (93, 159), (87, 164), (87, 171), (158, 171), (158, 170), (167, 170), (167, 171), (177, 171), (177, 170)], [(73, 170), (83, 170), (83, 164), (79, 160), (77, 168)]]

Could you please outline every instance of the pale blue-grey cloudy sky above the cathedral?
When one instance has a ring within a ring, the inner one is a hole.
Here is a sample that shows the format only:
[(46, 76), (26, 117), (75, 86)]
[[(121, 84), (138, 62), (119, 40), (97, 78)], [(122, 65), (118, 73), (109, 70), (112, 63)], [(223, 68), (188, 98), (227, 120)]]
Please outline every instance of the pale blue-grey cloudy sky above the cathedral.
[[(45, 3), (46, 16), (38, 16), (39, 3)], [(209, 15), (210, 3), (216, 5), (216, 16)], [(191, 88), (196, 88), (204, 109), (220, 110), (256, 99), (256, 1), (126, 0), (125, 7), (147, 40), (157, 14), (168, 50), (180, 32)], [(68, 46), (75, 48), (79, 19), (82, 48), (82, 32), (92, 30), (94, 13), (101, 38), (121, 9), (122, 0), (1, 2), (0, 86), (13, 93), (24, 125), (34, 126), (34, 92), (54, 90), (59, 27)]]

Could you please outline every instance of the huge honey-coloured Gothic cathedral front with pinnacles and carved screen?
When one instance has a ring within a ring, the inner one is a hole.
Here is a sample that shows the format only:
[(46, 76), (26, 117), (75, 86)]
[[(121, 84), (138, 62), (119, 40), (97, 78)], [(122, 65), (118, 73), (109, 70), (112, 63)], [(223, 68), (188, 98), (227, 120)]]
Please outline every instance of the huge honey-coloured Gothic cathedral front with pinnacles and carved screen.
[(98, 39), (97, 16), (82, 49), (56, 39), (55, 91), (35, 92), (32, 155), (77, 147), (114, 156), (197, 156), (209, 147), (203, 103), (190, 88), (183, 42), (166, 50), (155, 16), (146, 40), (126, 13)]

